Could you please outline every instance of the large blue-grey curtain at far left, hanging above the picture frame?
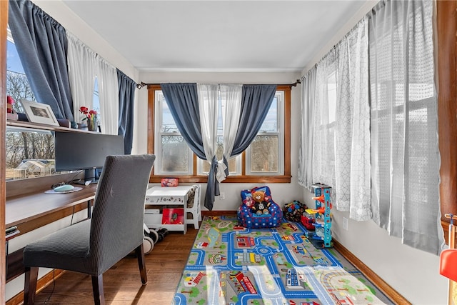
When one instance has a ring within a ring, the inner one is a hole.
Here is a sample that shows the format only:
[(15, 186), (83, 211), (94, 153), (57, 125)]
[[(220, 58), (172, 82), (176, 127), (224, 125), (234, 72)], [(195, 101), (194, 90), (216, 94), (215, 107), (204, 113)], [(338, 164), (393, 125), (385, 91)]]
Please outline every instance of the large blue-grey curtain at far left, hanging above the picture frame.
[(37, 101), (73, 119), (65, 29), (29, 0), (9, 1), (9, 28)]

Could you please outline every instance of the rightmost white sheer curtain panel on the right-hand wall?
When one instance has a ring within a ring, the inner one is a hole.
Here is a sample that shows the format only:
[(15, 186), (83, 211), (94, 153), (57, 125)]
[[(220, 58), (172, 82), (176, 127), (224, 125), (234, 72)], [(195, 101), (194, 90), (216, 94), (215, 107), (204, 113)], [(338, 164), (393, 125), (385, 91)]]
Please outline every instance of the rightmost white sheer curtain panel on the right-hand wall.
[(439, 254), (433, 1), (381, 2), (370, 20), (373, 220), (403, 244)]

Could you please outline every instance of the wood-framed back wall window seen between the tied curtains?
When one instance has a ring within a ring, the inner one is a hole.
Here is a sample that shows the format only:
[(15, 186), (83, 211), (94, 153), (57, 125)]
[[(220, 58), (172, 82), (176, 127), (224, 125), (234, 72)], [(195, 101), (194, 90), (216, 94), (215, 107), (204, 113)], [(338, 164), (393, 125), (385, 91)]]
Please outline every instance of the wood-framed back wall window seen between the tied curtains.
[[(229, 160), (227, 182), (290, 182), (290, 86), (278, 86), (261, 130), (251, 146)], [(222, 158), (223, 129), (219, 101), (218, 159)], [(149, 153), (156, 154), (151, 181), (178, 176), (183, 182), (204, 182), (209, 163), (197, 158), (179, 133), (159, 85), (149, 86)], [(285, 124), (288, 122), (288, 124)], [(257, 177), (257, 179), (256, 179)]]

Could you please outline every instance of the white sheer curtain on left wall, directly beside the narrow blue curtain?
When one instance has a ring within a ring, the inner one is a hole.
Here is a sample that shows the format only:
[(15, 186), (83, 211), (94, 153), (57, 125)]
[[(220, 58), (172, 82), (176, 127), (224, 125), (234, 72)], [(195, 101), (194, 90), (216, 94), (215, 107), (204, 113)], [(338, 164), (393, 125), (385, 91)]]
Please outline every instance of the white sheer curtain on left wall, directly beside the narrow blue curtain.
[(118, 134), (119, 129), (119, 84), (117, 71), (100, 56), (96, 57), (99, 82), (100, 126), (104, 134)]

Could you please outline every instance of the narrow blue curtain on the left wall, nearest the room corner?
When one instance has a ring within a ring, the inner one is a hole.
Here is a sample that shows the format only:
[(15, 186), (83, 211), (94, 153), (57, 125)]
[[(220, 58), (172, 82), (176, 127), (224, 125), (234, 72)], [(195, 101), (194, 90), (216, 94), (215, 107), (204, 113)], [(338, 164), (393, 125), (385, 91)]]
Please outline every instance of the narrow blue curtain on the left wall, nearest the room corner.
[(117, 83), (119, 85), (119, 136), (124, 136), (124, 154), (131, 154), (134, 140), (134, 101), (136, 83), (117, 70)]

